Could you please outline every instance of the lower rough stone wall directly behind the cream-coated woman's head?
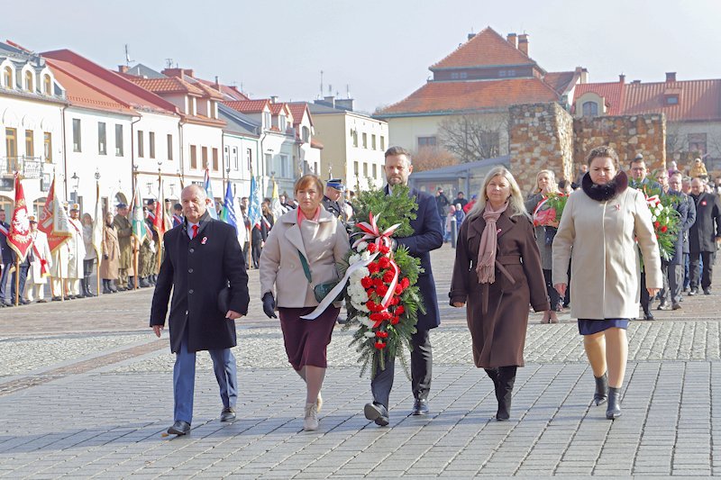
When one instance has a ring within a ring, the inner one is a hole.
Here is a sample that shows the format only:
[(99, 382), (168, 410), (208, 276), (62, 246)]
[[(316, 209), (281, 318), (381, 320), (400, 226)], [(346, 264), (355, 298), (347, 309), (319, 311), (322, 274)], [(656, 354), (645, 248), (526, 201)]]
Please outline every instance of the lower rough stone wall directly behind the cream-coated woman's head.
[(620, 167), (625, 170), (638, 153), (650, 170), (666, 168), (666, 117), (662, 113), (577, 118), (573, 135), (575, 167), (585, 161), (591, 149), (608, 145), (616, 149)]

